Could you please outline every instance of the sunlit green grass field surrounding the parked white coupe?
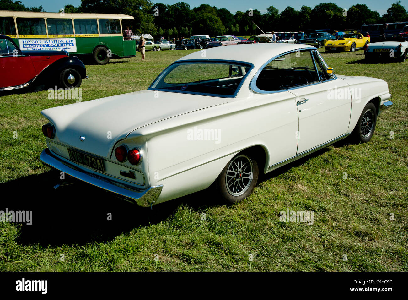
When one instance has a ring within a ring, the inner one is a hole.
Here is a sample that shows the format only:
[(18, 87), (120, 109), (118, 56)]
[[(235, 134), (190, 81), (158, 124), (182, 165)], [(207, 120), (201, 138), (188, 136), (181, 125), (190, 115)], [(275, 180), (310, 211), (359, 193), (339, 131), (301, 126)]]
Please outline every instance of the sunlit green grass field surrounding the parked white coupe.
[[(191, 52), (87, 65), (82, 101), (145, 89)], [(0, 210), (32, 210), (33, 224), (0, 222), (0, 271), (408, 271), (408, 62), (322, 55), (335, 73), (386, 80), (394, 106), (370, 142), (341, 141), (268, 173), (233, 206), (211, 191), (150, 209), (86, 184), (54, 190), (59, 174), (39, 160), (40, 111), (75, 100), (1, 96)], [(314, 224), (280, 222), (287, 208), (314, 211)]]

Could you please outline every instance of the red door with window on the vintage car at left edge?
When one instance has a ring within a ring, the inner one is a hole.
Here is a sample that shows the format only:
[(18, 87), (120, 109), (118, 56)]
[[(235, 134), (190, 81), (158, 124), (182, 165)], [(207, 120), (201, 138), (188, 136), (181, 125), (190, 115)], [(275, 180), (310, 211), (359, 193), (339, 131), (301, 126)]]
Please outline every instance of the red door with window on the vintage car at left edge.
[(14, 87), (29, 82), (37, 74), (29, 56), (8, 39), (0, 39), (0, 88)]

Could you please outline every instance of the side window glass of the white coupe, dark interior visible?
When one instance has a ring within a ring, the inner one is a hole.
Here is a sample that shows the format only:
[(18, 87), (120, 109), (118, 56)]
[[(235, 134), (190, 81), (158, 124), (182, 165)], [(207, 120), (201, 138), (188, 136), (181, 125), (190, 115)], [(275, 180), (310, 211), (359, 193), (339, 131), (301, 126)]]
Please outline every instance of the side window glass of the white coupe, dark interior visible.
[(310, 50), (297, 50), (269, 62), (255, 84), (262, 91), (279, 91), (318, 81)]

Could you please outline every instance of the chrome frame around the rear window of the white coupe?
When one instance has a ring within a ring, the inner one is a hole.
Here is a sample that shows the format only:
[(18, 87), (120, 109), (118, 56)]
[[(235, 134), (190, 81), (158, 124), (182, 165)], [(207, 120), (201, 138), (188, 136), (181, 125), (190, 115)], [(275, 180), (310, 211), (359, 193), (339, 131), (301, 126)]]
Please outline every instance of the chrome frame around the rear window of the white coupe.
[[(235, 89), (235, 92), (233, 95), (221, 95), (221, 94), (213, 94), (213, 93), (197, 93), (197, 92), (191, 92), (191, 91), (177, 91), (177, 90), (169, 90), (169, 89), (155, 89), (152, 88), (153, 84), (157, 82), (157, 80), (160, 80), (162, 76), (166, 73), (166, 71), (173, 65), (173, 64), (180, 64), (180, 63), (191, 63), (191, 62), (198, 62), (198, 63), (224, 63), (224, 64), (242, 64), (242, 65), (247, 65), (250, 67), (250, 69), (245, 73), (245, 75), (242, 77), (241, 82), (239, 82), (237, 88)], [(235, 98), (239, 92), (239, 90), (242, 87), (242, 84), (244, 84), (244, 81), (246, 80), (246, 77), (248, 76), (249, 73), (253, 70), (254, 65), (251, 62), (244, 62), (244, 61), (239, 61), (239, 60), (220, 60), (220, 59), (211, 59), (211, 60), (200, 60), (200, 59), (194, 59), (194, 60), (176, 60), (172, 64), (169, 65), (162, 73), (159, 74), (159, 76), (156, 77), (155, 80), (153, 80), (152, 84), (147, 88), (148, 91), (163, 91), (163, 92), (170, 92), (170, 93), (182, 93), (182, 94), (189, 94), (189, 95), (201, 95), (201, 96), (210, 96), (210, 97), (219, 97), (219, 98)]]

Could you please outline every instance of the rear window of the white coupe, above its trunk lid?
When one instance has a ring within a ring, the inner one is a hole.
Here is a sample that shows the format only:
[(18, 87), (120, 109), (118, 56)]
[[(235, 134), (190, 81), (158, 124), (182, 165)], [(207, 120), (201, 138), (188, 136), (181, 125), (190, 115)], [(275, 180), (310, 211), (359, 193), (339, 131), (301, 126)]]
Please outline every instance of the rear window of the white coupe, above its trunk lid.
[(250, 69), (250, 65), (236, 62), (177, 62), (164, 70), (149, 89), (231, 97)]

